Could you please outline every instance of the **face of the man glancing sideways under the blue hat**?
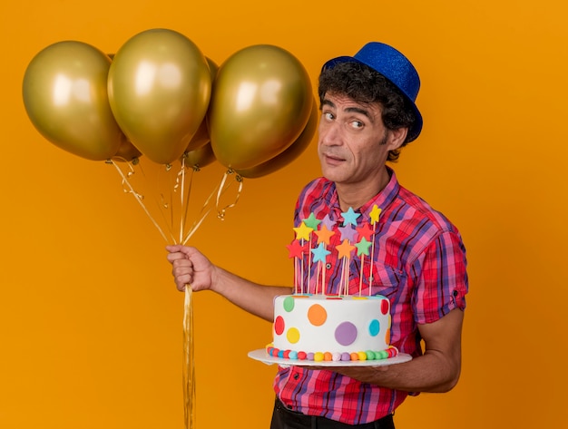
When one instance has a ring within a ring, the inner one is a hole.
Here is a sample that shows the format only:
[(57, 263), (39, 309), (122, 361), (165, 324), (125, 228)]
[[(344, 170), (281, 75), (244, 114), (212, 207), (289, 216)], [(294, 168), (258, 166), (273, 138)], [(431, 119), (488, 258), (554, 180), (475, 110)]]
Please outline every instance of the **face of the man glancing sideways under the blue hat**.
[(322, 174), (337, 184), (371, 184), (384, 173), (388, 151), (397, 149), (379, 103), (354, 102), (327, 93), (319, 120), (318, 156)]

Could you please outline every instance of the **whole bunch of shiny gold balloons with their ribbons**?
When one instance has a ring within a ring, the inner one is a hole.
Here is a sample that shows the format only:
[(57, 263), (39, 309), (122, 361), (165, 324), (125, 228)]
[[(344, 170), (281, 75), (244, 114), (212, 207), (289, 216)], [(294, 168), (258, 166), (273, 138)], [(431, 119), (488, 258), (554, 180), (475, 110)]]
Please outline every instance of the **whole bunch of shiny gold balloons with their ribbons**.
[[(136, 34), (116, 54), (76, 41), (47, 46), (25, 70), (23, 96), (30, 120), (46, 140), (84, 159), (113, 164), (124, 190), (174, 243), (190, 239), (215, 194), (222, 219), (239, 198), (242, 178), (265, 176), (296, 159), (318, 122), (308, 73), (286, 50), (253, 45), (218, 67), (186, 36), (167, 29)], [(169, 191), (158, 190), (156, 199), (168, 219), (169, 237), (135, 189), (134, 173), (145, 176), (141, 160), (157, 164), (166, 176), (148, 182), (165, 183)], [(228, 170), (188, 230), (191, 178), (215, 160)], [(237, 197), (220, 209), (231, 175)], [(191, 428), (191, 288), (185, 297), (184, 412)]]

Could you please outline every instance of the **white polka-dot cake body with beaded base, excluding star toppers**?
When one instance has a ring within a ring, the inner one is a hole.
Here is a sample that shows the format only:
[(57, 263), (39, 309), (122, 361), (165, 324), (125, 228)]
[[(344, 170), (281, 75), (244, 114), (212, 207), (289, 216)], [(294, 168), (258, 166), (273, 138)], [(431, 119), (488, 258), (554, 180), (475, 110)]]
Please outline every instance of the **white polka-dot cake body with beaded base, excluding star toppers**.
[(285, 295), (274, 300), (269, 356), (354, 361), (397, 356), (386, 297)]

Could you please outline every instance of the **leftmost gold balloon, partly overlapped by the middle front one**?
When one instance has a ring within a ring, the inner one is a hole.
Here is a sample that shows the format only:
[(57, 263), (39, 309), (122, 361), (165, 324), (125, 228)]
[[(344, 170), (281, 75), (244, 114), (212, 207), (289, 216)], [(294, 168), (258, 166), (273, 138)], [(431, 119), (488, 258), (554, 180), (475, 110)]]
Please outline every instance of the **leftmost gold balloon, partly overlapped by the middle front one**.
[(36, 54), (24, 73), (24, 106), (45, 139), (75, 155), (103, 161), (121, 130), (106, 91), (111, 59), (90, 44), (65, 41)]

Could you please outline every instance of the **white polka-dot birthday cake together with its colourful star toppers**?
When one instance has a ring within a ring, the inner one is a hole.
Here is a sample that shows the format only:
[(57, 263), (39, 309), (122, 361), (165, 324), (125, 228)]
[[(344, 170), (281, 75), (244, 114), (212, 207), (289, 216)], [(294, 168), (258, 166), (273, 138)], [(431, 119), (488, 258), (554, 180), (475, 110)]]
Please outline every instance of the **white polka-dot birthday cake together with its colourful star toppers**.
[[(341, 213), (341, 226), (338, 219), (317, 219), (311, 213), (294, 228), (296, 239), (287, 247), (294, 258), (296, 293), (274, 300), (269, 356), (317, 362), (397, 356), (397, 348), (390, 346), (390, 302), (368, 293), (380, 212), (373, 206), (370, 222), (359, 225), (360, 214), (349, 208)], [(349, 281), (356, 249), (358, 285)], [(340, 268), (329, 283), (327, 271), (334, 266)], [(324, 293), (329, 290), (334, 294)]]

